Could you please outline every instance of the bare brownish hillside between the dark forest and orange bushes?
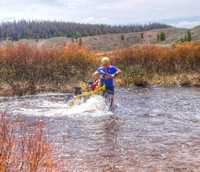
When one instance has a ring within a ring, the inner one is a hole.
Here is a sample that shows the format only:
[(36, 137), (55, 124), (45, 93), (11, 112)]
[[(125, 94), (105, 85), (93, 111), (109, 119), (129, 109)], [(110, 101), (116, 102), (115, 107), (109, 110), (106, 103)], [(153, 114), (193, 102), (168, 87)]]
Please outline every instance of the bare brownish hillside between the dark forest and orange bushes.
[[(166, 29), (155, 29), (145, 32), (134, 32), (134, 33), (120, 33), (120, 34), (106, 34), (98, 36), (82, 37), (82, 44), (87, 45), (92, 51), (110, 51), (116, 48), (124, 46), (133, 46), (137, 44), (157, 44), (157, 35), (164, 32), (166, 40), (159, 43), (159, 45), (172, 45), (181, 42), (187, 29), (181, 28), (166, 28)], [(192, 40), (200, 41), (200, 26), (191, 29)], [(43, 40), (20, 40), (27, 42), (33, 46), (46, 48), (51, 46), (62, 46), (69, 45), (72, 42), (71, 38), (66, 37), (55, 37)], [(74, 41), (79, 42), (80, 39)], [(4, 45), (6, 41), (0, 42), (0, 45)]]

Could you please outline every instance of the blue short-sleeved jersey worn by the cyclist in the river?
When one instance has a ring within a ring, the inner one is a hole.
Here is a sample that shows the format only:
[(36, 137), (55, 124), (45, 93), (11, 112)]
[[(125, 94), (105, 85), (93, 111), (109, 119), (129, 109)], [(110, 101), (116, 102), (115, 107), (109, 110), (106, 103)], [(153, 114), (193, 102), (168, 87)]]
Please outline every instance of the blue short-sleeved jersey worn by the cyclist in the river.
[[(99, 67), (97, 69), (97, 72), (99, 72), (100, 70), (102, 70), (103, 72), (105, 73), (108, 73), (110, 75), (114, 74), (115, 72), (117, 72), (117, 67), (115, 66), (108, 66), (108, 69), (104, 69), (103, 66), (102, 67)], [(102, 85), (104, 84), (104, 78), (103, 78), (103, 74), (100, 74), (100, 79), (101, 79), (101, 83)], [(113, 87), (114, 86), (114, 81), (113, 81), (113, 78), (109, 78), (108, 80), (105, 80), (105, 84), (106, 84), (106, 87)]]

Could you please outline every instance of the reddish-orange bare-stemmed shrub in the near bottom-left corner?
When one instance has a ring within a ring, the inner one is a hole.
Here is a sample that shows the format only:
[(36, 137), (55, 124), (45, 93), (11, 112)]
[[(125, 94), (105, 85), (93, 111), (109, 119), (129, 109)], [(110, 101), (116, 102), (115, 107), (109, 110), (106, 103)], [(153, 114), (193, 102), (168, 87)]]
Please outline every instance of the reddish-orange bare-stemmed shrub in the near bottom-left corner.
[(44, 122), (29, 127), (0, 112), (0, 171), (62, 171), (60, 153), (45, 136)]

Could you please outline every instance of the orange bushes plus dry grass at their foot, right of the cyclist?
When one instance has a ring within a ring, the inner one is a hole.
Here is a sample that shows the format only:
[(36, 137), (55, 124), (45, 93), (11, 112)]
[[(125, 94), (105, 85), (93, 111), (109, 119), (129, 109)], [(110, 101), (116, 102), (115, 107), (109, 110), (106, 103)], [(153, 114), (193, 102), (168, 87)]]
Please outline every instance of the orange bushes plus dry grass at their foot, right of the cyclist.
[[(199, 42), (168, 48), (156, 45), (126, 47), (113, 52), (112, 62), (123, 70), (122, 78), (126, 85), (200, 85)], [(169, 82), (170, 77), (173, 82)], [(182, 80), (177, 82), (177, 77)]]

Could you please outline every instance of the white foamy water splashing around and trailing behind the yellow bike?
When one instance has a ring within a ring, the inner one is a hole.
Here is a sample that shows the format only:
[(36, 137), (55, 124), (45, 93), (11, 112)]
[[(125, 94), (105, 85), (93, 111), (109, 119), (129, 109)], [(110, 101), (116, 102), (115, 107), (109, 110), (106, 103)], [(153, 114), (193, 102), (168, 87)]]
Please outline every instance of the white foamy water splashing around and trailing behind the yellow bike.
[[(48, 97), (48, 96), (47, 96)], [(36, 99), (19, 99), (18, 101), (4, 102), (5, 110), (26, 116), (103, 116), (108, 115), (105, 101), (102, 96), (94, 96), (86, 103), (74, 107), (67, 107), (65, 100), (51, 100), (46, 96)]]

